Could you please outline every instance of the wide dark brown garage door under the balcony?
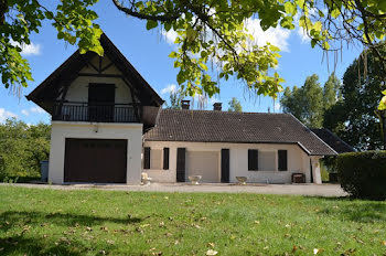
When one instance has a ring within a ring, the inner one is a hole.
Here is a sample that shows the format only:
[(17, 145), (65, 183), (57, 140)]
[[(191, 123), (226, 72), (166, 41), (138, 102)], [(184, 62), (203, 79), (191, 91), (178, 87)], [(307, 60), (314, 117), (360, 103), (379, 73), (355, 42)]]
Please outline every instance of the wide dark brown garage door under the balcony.
[(64, 181), (126, 183), (127, 140), (66, 139)]

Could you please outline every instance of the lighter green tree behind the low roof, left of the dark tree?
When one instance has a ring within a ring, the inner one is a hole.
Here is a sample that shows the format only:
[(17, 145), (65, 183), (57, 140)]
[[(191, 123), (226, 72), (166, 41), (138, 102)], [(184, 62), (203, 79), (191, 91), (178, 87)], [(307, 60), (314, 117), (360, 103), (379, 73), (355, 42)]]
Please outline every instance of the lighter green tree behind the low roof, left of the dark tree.
[(300, 88), (294, 86), (292, 92), (287, 87), (280, 103), (285, 113), (291, 113), (305, 126), (313, 128), (322, 126), (323, 89), (318, 75), (308, 76), (304, 85)]

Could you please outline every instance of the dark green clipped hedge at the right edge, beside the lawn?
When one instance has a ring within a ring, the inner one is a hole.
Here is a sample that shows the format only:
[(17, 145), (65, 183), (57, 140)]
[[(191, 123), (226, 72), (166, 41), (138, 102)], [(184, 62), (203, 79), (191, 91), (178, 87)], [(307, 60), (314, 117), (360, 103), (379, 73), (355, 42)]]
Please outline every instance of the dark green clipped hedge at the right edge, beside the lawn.
[(342, 153), (336, 168), (341, 186), (352, 196), (386, 199), (386, 151)]

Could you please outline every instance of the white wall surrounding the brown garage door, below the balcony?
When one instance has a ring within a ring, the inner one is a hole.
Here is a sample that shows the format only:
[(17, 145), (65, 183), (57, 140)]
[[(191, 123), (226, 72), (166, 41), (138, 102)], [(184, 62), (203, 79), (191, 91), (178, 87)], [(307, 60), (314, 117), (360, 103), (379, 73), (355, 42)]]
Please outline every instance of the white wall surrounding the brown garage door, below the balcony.
[(63, 183), (65, 139), (126, 139), (127, 183), (141, 181), (142, 124), (52, 121), (49, 181)]

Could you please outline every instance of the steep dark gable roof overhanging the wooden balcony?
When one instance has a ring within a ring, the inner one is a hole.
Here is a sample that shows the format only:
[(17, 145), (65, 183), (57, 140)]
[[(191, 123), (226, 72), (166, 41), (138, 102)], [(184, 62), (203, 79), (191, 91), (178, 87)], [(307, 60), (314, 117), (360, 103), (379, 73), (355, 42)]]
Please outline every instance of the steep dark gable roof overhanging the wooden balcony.
[[(163, 99), (144, 81), (105, 33), (100, 35), (100, 44), (105, 50), (105, 54), (133, 86), (135, 92), (141, 94), (139, 96), (142, 103), (144, 102), (146, 105), (154, 106), (161, 106), (163, 104)], [(50, 113), (50, 103), (61, 94), (65, 85), (71, 84), (78, 76), (78, 72), (95, 56), (97, 54), (94, 52), (81, 54), (79, 50), (77, 50), (29, 94), (26, 98)]]

